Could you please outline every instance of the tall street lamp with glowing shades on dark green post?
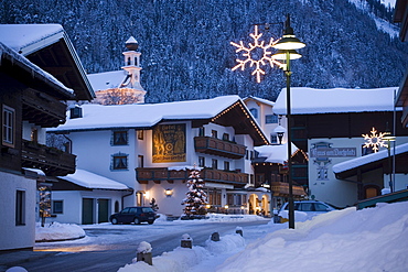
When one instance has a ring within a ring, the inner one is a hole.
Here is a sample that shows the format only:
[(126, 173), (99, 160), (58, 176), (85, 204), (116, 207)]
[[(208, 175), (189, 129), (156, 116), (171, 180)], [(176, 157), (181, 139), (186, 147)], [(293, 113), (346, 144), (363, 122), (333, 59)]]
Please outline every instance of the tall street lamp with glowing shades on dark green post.
[(272, 55), (275, 59), (286, 61), (282, 66), (284, 76), (287, 78), (287, 126), (288, 126), (288, 179), (289, 179), (289, 228), (294, 229), (294, 205), (293, 205), (293, 182), (292, 182), (292, 143), (291, 143), (291, 106), (290, 106), (290, 59), (300, 58), (302, 55), (296, 52), (296, 50), (304, 47), (305, 44), (300, 42), (293, 34), (293, 29), (290, 26), (290, 15), (287, 14), (284, 22), (283, 37), (272, 45), (278, 52)]

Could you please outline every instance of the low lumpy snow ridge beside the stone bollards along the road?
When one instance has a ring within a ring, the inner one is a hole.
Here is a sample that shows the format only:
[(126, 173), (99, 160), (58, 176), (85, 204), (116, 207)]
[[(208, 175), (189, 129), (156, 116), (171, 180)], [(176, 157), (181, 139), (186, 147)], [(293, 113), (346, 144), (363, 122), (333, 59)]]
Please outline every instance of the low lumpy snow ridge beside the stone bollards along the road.
[(181, 272), (187, 271), (203, 262), (205, 259), (213, 255), (235, 251), (237, 248), (245, 246), (245, 240), (239, 235), (227, 235), (222, 237), (219, 241), (206, 241), (206, 247), (193, 247), (192, 249), (178, 247), (171, 252), (164, 252), (159, 257), (153, 258), (153, 265), (146, 262), (135, 262), (126, 264), (119, 269), (119, 272)]

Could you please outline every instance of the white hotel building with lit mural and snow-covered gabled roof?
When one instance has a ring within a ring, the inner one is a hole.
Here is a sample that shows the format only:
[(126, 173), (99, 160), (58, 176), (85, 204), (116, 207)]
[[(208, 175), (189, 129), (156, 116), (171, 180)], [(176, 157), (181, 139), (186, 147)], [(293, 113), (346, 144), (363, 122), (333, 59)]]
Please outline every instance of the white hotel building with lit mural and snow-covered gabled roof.
[[(154, 198), (160, 214), (182, 215), (194, 165), (202, 170), (210, 211), (225, 211), (228, 205), (227, 213), (248, 213), (250, 194), (258, 199), (266, 194), (245, 189), (254, 186), (254, 148), (269, 141), (238, 96), (79, 109), (80, 115), (47, 132), (69, 139), (78, 168), (133, 189), (120, 208)], [(108, 205), (115, 204), (109, 199)]]

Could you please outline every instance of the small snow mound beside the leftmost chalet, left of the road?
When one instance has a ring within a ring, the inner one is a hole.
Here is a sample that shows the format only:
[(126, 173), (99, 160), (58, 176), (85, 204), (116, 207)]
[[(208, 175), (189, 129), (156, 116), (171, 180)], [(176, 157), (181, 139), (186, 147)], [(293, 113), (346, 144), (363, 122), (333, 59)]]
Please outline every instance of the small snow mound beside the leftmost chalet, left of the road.
[(35, 241), (58, 241), (85, 237), (85, 231), (75, 224), (51, 222), (35, 226)]

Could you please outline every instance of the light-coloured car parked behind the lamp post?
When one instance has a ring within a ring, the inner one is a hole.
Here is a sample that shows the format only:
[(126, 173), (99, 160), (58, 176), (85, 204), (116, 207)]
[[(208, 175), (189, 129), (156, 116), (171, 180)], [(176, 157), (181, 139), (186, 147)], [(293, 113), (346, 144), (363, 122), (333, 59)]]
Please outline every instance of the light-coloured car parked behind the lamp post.
[[(309, 220), (316, 215), (337, 209), (328, 203), (318, 200), (293, 202), (293, 208), (294, 208), (294, 219), (299, 221)], [(288, 221), (288, 213), (289, 213), (289, 203), (284, 203), (282, 207), (279, 209), (278, 215), (275, 218), (275, 222)]]

